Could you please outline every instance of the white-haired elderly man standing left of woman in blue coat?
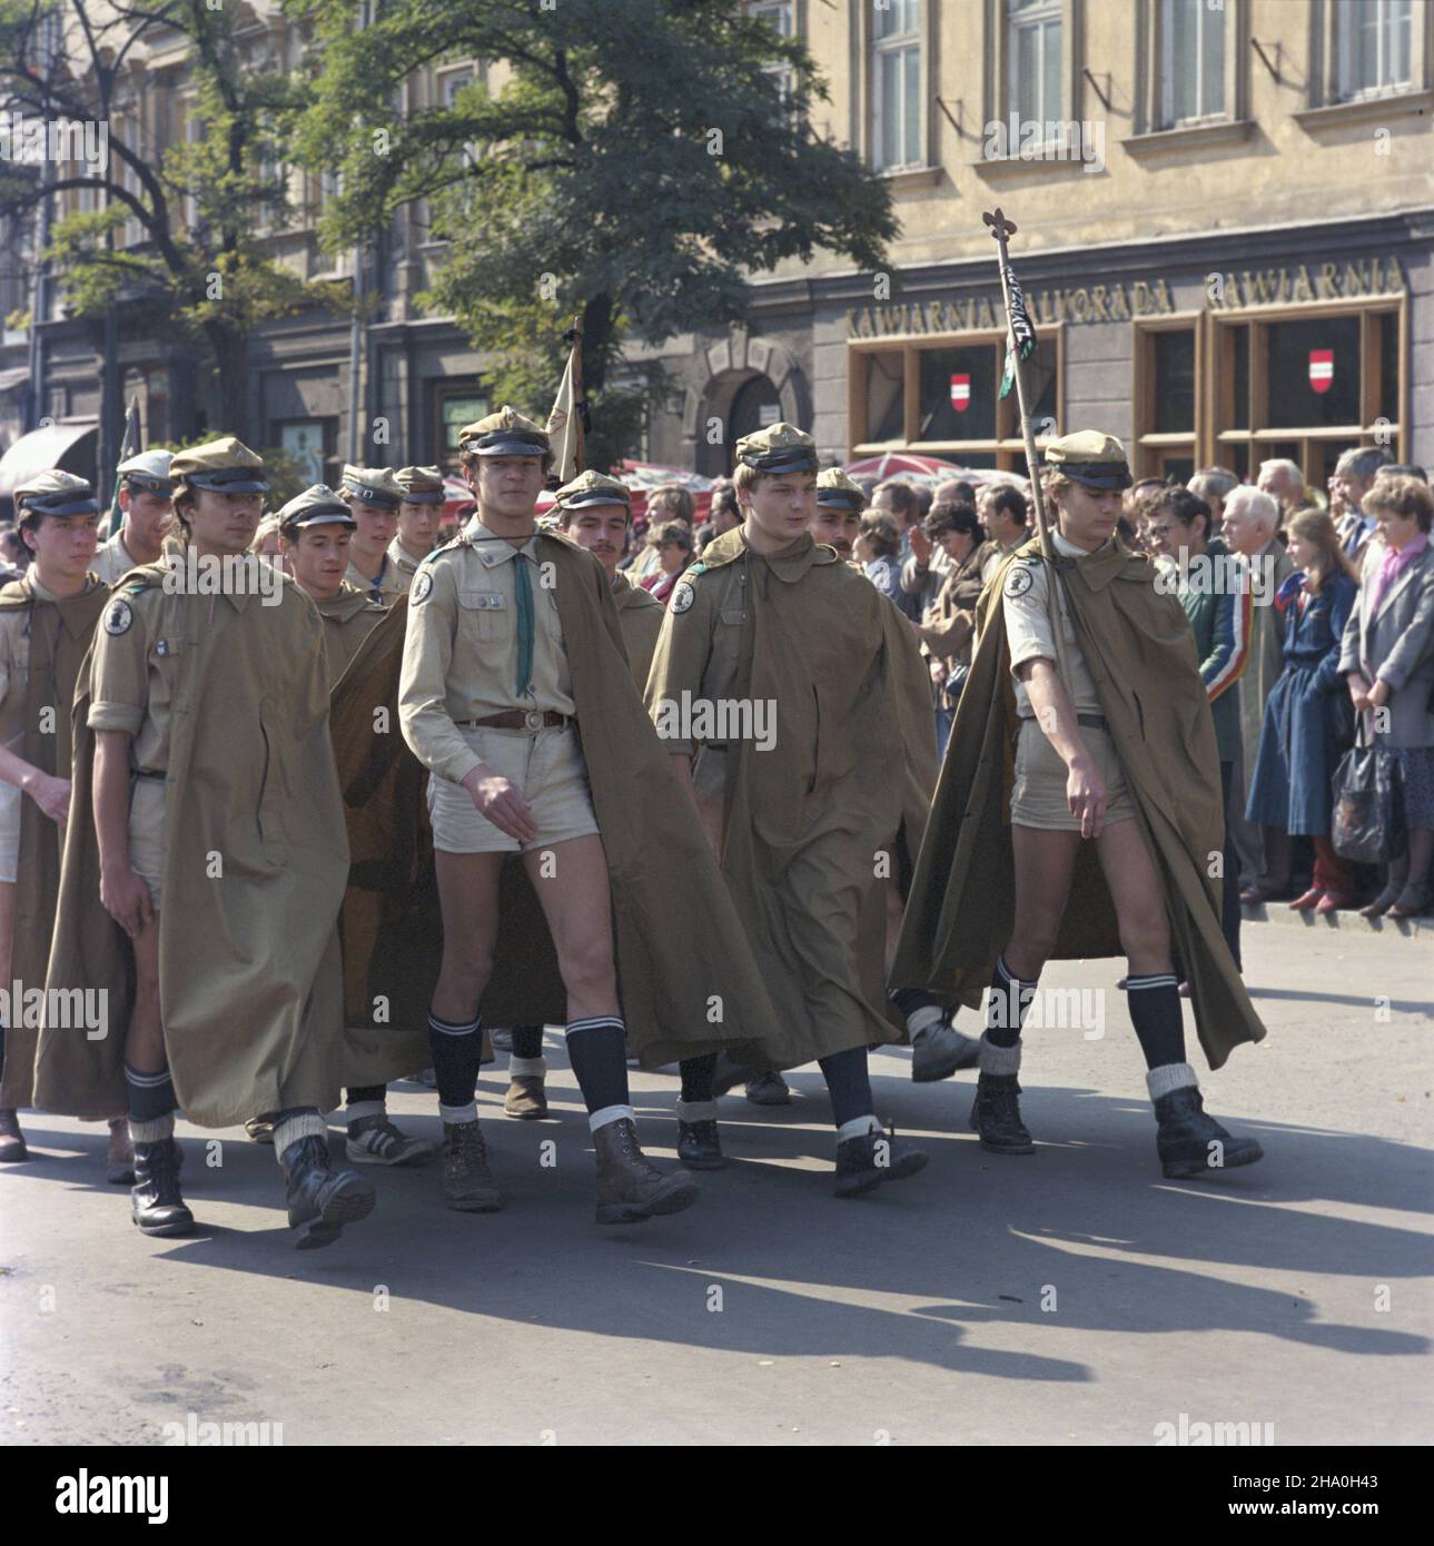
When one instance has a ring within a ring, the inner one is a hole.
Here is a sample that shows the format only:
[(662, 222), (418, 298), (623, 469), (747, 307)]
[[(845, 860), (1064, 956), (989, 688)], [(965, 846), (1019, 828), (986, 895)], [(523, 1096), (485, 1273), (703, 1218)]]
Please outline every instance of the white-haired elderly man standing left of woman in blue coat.
[(1284, 638), (1279, 614), (1275, 611), (1275, 592), (1295, 572), (1276, 535), (1278, 526), (1279, 506), (1273, 495), (1251, 489), (1250, 484), (1239, 484), (1230, 492), (1225, 499), (1225, 544), (1230, 552), (1244, 557), (1255, 601), (1250, 621), (1250, 663), (1238, 685), (1241, 764), (1231, 781), (1230, 805), (1225, 810), (1241, 861), (1244, 886), (1241, 901), (1248, 903), (1282, 897), (1290, 886), (1289, 833), (1245, 821), (1265, 699), (1284, 669)]

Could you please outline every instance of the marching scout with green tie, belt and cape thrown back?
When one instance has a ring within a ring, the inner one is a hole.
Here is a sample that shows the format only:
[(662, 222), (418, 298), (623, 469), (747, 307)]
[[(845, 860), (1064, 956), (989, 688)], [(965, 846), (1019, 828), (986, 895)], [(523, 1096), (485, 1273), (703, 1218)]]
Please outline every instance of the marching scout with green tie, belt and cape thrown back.
[[(500, 892), (521, 853), (566, 989), (557, 1019), (597, 1150), (597, 1220), (676, 1212), (696, 1186), (637, 1144), (627, 1042), (659, 1067), (753, 1040), (770, 1005), (633, 686), (606, 570), (535, 526), (548, 436), (503, 408), (463, 430), (459, 451), (478, 513), (415, 577), (399, 699), (433, 773), (444, 952), (428, 1025), (446, 1198), (500, 1206), (473, 1085), (480, 1005), (504, 1023), (490, 985), (514, 959), (532, 976), (546, 949), (541, 931), (515, 932)], [(699, 935), (721, 962), (710, 980), (681, 945)], [(535, 997), (529, 986), (529, 1014)]]

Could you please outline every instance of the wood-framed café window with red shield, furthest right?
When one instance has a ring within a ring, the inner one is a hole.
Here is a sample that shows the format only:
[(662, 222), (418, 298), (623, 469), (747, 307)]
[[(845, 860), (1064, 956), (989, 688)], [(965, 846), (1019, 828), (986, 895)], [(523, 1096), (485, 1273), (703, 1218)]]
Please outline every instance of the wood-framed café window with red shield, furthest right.
[(1211, 317), (1211, 328), (1216, 462), (1251, 478), (1287, 456), (1318, 489), (1352, 445), (1403, 459), (1403, 301)]

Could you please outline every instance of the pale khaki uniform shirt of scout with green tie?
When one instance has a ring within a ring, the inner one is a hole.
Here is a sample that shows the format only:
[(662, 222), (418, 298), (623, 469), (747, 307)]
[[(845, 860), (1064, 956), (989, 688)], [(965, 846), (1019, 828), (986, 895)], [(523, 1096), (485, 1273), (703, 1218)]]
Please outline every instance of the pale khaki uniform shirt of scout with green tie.
[[(421, 762), (461, 784), (480, 765), (458, 725), (510, 710), (577, 714), (557, 598), (537, 564), (538, 536), (521, 547), (475, 516), (456, 543), (422, 564), (408, 601), (399, 724)], [(532, 584), (532, 677), (518, 694), (515, 564)]]

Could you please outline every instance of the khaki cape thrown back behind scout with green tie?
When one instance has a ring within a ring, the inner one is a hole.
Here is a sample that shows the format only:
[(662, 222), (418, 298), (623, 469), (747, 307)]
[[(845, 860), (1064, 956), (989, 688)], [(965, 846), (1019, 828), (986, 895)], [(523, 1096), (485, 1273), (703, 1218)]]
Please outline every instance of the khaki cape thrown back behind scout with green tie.
[[(541, 527), (537, 561), (540, 570), (552, 566), (552, 595), (608, 861), (628, 1045), (644, 1068), (744, 1047), (766, 1031), (772, 1006), (691, 804), (633, 686), (606, 570), (589, 552)], [(390, 965), (370, 969), (399, 983), (396, 993), (418, 996), (427, 1011), (442, 932), (424, 799), (427, 771), (398, 733), (401, 665), (402, 623), (390, 615), (368, 635), (336, 688), (333, 736), (350, 810), (362, 805), (364, 821), (393, 829), (385, 836), (376, 826), (370, 843), (360, 836), (362, 822), (350, 826), (350, 884), (357, 877), (384, 894), (390, 909), (381, 932)], [(396, 747), (374, 747), (381, 737), (373, 734), (373, 711), (379, 705), (388, 707)], [(365, 767), (370, 756), (373, 765)], [(390, 758), (393, 765), (385, 768)], [(385, 778), (396, 781), (391, 796), (384, 793)], [(360, 870), (365, 855), (371, 855), (371, 867)], [(565, 1023), (566, 991), (552, 937), (517, 856), (503, 867), (498, 909), (493, 976), (481, 1005), (484, 1023)], [(362, 962), (362, 951), (347, 954), (353, 1013), (360, 1008), (353, 977), (359, 968), (353, 962)], [(405, 1057), (408, 1068), (428, 1062), (425, 1042), (424, 1056), (413, 1062), (401, 1034), (385, 1031), (385, 1037), (391, 1042), (390, 1061), (377, 1048), (370, 1062), (354, 1064), (373, 1070), (373, 1082), (404, 1071), (399, 1064)], [(351, 1031), (351, 1056), (354, 1040)], [(345, 1070), (351, 1082), (367, 1082), (348, 1064)]]

